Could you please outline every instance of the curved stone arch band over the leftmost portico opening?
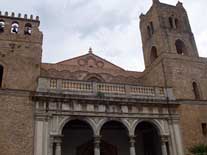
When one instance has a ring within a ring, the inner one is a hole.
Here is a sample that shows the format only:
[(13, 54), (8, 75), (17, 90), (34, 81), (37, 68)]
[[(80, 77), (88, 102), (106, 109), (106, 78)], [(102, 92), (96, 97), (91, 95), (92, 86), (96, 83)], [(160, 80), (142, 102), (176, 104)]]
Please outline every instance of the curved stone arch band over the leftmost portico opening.
[(79, 120), (79, 121), (83, 121), (85, 123), (87, 123), (92, 131), (93, 131), (93, 134), (95, 135), (96, 133), (96, 125), (94, 123), (94, 121), (90, 118), (85, 118), (85, 117), (66, 117), (64, 118), (60, 123), (59, 123), (59, 126), (58, 126), (58, 134), (61, 135), (62, 134), (62, 130), (64, 128), (64, 126), (69, 123), (70, 121), (73, 121), (73, 120)]

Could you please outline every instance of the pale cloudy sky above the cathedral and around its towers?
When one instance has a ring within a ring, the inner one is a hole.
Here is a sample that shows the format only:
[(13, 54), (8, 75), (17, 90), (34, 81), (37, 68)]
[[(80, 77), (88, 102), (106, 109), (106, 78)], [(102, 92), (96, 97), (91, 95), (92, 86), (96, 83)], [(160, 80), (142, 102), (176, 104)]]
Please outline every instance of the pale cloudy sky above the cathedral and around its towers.
[[(175, 5), (177, 0), (160, 0)], [(182, 0), (200, 56), (207, 57), (207, 0)], [(151, 0), (0, 0), (0, 10), (40, 16), (43, 62), (95, 54), (126, 70), (144, 69), (139, 15)]]

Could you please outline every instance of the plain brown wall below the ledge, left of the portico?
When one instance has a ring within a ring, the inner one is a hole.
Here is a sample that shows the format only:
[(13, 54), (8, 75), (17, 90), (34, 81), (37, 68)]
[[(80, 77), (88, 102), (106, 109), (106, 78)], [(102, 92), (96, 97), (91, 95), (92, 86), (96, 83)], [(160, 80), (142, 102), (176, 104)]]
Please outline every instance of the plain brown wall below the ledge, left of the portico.
[(28, 93), (0, 91), (0, 154), (32, 155), (34, 113)]

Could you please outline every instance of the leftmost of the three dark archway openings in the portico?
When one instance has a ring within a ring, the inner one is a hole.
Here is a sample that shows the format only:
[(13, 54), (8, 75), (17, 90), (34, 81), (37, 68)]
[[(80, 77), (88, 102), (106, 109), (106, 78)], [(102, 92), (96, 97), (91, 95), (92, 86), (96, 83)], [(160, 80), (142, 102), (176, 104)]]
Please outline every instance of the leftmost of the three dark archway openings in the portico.
[(62, 134), (62, 155), (94, 155), (93, 130), (88, 123), (72, 120)]

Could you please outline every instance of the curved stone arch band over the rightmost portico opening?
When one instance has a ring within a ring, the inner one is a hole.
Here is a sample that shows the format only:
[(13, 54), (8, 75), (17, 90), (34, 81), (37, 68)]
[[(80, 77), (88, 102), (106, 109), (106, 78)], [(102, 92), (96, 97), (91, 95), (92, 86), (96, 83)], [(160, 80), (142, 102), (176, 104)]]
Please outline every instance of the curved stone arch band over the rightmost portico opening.
[(161, 124), (159, 121), (157, 120), (148, 120), (148, 119), (144, 119), (144, 120), (137, 120), (134, 122), (132, 129), (131, 129), (131, 133), (134, 135), (135, 134), (135, 130), (136, 127), (138, 126), (138, 124), (142, 123), (142, 122), (147, 122), (153, 125), (153, 127), (155, 127), (155, 129), (157, 130), (157, 132), (159, 133), (159, 135), (165, 135), (165, 131), (162, 128)]

